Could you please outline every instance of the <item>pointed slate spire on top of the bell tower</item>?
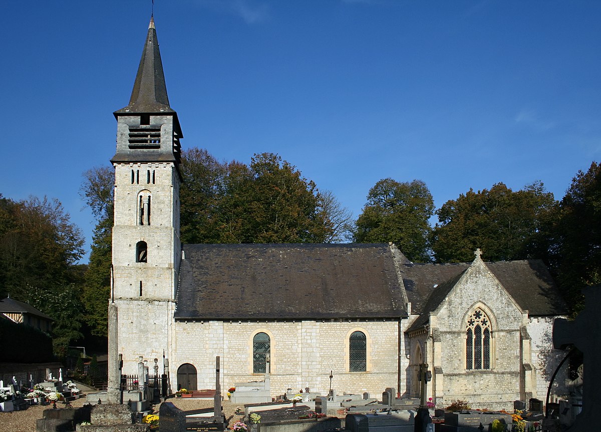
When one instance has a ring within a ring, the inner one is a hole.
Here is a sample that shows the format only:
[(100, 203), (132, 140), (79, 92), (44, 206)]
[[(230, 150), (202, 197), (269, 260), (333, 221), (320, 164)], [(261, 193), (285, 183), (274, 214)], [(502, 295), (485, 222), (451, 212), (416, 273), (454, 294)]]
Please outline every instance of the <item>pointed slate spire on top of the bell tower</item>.
[(133, 84), (129, 105), (117, 113), (173, 112), (169, 107), (163, 64), (160, 61), (159, 41), (154, 28), (154, 18), (150, 17), (148, 35), (142, 50), (142, 58)]

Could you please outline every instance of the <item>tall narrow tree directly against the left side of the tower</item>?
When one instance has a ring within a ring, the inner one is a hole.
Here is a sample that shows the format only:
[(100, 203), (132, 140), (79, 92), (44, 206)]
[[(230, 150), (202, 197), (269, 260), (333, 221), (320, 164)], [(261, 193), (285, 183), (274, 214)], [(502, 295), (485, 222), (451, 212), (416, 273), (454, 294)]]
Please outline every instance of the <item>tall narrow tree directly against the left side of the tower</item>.
[(81, 293), (84, 322), (94, 336), (107, 335), (108, 300), (111, 292), (113, 193), (115, 171), (111, 166), (88, 169), (79, 193), (96, 218), (90, 263)]

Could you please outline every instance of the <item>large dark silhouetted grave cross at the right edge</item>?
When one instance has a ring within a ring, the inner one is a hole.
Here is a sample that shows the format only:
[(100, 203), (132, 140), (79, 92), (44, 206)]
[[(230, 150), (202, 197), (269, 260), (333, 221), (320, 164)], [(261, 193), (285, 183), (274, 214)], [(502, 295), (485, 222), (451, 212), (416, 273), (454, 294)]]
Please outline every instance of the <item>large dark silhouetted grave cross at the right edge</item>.
[(587, 368), (587, 379), (582, 380), (582, 412), (576, 416), (576, 421), (569, 428), (570, 432), (590, 430), (601, 412), (601, 398), (596, 397), (597, 389), (601, 386), (601, 368), (595, 364), (601, 358), (601, 320), (597, 311), (601, 304), (601, 285), (584, 288), (582, 292), (585, 308), (576, 320), (555, 318), (553, 324), (554, 348), (575, 345), (582, 351)]

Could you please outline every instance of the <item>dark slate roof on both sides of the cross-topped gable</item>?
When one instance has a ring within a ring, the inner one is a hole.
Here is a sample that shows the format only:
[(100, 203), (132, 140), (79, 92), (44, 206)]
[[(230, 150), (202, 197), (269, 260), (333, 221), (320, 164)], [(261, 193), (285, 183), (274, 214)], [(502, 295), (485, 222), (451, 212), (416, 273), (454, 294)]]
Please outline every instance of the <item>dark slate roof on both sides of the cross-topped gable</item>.
[[(540, 260), (484, 263), (501, 285), (530, 316), (566, 315), (567, 306), (549, 270)], [(407, 331), (428, 322), (470, 263), (404, 264), (400, 271), (412, 313), (420, 314)], [(434, 286), (438, 285), (438, 286)]]

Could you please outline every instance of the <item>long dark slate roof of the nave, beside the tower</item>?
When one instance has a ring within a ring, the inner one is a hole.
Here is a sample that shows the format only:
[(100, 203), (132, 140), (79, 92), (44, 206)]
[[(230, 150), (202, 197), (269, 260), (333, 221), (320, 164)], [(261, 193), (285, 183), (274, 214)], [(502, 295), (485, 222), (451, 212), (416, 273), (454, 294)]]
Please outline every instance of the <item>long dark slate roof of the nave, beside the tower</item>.
[(407, 317), (388, 245), (186, 245), (184, 252), (175, 318)]

